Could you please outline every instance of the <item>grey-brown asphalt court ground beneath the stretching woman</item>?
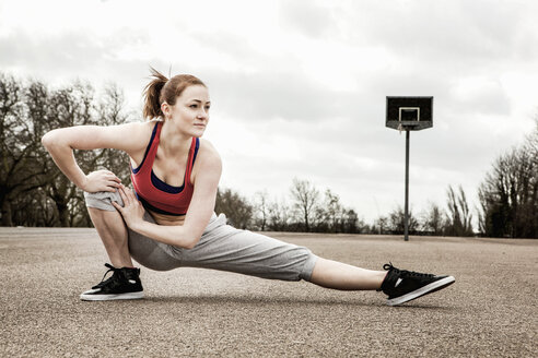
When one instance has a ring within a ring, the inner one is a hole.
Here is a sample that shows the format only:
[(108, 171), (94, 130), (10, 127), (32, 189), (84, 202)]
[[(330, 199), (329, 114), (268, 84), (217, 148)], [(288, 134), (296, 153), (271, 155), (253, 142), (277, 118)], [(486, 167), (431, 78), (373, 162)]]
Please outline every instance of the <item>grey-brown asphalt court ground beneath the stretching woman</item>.
[(379, 293), (179, 268), (147, 298), (83, 302), (106, 256), (94, 229), (0, 228), (1, 357), (537, 357), (538, 240), (272, 234), (369, 268), (456, 284), (387, 307)]

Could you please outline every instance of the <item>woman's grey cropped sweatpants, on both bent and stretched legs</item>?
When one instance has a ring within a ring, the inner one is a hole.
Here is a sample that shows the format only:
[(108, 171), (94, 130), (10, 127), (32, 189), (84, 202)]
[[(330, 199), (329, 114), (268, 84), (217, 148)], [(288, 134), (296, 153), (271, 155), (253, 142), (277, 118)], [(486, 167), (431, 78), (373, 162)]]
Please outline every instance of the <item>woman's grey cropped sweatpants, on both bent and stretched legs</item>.
[[(116, 211), (112, 201), (124, 205), (118, 192), (84, 193), (86, 206)], [(150, 213), (144, 220), (155, 223)], [(140, 235), (129, 228), (129, 252), (141, 265), (156, 271), (203, 267), (261, 278), (309, 281), (317, 256), (307, 248), (239, 230), (226, 225), (224, 214), (211, 216), (200, 241), (192, 249), (177, 248)]]

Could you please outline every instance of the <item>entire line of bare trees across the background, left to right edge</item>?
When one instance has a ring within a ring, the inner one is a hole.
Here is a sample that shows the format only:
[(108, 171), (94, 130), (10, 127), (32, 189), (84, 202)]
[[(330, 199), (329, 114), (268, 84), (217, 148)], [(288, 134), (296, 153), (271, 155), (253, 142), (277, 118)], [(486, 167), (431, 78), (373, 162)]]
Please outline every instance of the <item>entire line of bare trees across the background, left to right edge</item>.
[[(37, 80), (19, 80), (0, 72), (0, 219), (2, 226), (87, 227), (83, 193), (56, 167), (40, 144), (56, 128), (132, 121), (122, 91), (114, 84), (97, 91), (75, 81), (51, 88)], [(538, 237), (538, 120), (525, 142), (492, 164), (479, 188), (479, 207), (469, 207), (461, 187), (446, 190), (446, 206), (435, 203), (416, 214), (414, 235)], [(130, 180), (127, 155), (114, 150), (74, 151), (84, 172), (107, 168), (122, 182)], [(330, 189), (319, 190), (295, 178), (288, 196), (267, 192), (246, 199), (219, 188), (215, 211), (238, 228), (271, 231), (402, 234), (404, 210), (396, 207), (366, 224)], [(473, 214), (478, 227), (472, 227)]]

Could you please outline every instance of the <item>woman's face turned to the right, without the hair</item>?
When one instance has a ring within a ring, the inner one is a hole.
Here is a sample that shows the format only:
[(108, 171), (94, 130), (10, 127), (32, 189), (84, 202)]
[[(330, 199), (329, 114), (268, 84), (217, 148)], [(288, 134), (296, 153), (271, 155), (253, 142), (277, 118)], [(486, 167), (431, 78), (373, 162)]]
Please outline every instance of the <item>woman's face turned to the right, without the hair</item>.
[(176, 98), (174, 106), (163, 104), (165, 107), (163, 111), (166, 120), (176, 123), (185, 134), (200, 138), (209, 122), (210, 105), (208, 88), (202, 85), (191, 85)]

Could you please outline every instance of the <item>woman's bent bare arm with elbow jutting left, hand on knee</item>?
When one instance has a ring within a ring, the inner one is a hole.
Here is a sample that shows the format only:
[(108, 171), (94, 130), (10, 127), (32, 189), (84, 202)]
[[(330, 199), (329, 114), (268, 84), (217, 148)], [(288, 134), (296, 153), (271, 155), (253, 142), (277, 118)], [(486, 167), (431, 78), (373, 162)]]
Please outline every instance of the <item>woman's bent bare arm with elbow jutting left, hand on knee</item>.
[(50, 153), (58, 168), (77, 187), (84, 191), (115, 191), (119, 179), (110, 171), (97, 171), (86, 176), (74, 159), (73, 150), (117, 148), (128, 154), (143, 148), (141, 123), (98, 127), (78, 126), (52, 130), (42, 143)]

